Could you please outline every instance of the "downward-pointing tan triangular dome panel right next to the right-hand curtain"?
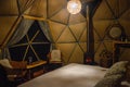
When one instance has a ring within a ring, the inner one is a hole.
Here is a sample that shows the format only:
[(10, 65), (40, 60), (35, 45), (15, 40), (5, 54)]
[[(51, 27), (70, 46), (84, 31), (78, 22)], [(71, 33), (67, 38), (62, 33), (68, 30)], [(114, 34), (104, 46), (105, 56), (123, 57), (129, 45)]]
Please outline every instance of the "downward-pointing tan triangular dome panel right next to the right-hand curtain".
[(50, 30), (54, 41), (57, 41), (66, 25), (49, 21)]

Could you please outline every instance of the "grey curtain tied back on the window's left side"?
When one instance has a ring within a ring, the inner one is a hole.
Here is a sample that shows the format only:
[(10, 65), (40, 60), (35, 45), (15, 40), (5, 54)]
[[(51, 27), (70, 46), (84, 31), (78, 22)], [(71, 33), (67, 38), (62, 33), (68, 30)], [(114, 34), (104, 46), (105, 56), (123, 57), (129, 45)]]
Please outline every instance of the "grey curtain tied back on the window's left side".
[(9, 40), (9, 42), (6, 44), (6, 47), (4, 47), (2, 49), (2, 53), (3, 53), (3, 58), (9, 58), (10, 57), (10, 52), (9, 52), (9, 47), (18, 42), (28, 32), (29, 27), (31, 26), (34, 20), (27, 20), (27, 18), (22, 18), (21, 24), (17, 26), (14, 35), (11, 37), (11, 39)]

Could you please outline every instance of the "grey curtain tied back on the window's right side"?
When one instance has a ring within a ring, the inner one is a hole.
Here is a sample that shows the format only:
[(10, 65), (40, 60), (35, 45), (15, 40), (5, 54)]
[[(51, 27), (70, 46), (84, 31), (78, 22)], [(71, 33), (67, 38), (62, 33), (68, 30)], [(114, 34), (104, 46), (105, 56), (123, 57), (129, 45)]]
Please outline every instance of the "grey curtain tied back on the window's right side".
[(54, 40), (52, 38), (52, 35), (51, 35), (51, 32), (50, 32), (50, 27), (49, 27), (49, 24), (48, 22), (44, 22), (44, 21), (39, 21), (39, 25), (43, 32), (43, 34), (46, 35), (46, 37), (48, 38), (48, 40), (51, 42), (51, 48), (50, 50), (52, 49), (55, 49), (55, 45), (54, 45)]

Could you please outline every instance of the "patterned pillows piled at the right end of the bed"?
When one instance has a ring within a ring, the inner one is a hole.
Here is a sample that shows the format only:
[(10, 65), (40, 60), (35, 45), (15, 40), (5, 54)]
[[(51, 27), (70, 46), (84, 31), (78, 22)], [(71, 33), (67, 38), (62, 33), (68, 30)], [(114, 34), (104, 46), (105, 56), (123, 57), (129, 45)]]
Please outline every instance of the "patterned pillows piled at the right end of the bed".
[(127, 71), (128, 61), (115, 63), (94, 87), (119, 87)]

